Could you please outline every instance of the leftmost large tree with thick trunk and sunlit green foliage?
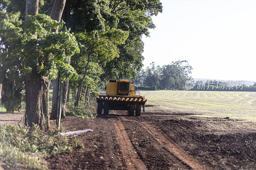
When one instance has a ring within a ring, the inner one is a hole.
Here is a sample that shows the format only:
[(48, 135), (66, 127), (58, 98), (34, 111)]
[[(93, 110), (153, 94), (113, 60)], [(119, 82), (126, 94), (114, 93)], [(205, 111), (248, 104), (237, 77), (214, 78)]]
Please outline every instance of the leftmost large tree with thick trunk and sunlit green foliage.
[[(42, 114), (45, 109), (42, 88), (47, 85), (48, 76), (56, 78), (58, 70), (63, 80), (76, 77), (76, 71), (68, 64), (68, 59), (79, 51), (78, 44), (66, 29), (53, 33), (52, 30), (62, 29), (64, 23), (52, 20), (49, 16), (27, 15), (26, 20), (21, 22), (20, 12), (3, 9), (0, 18), (3, 18), (0, 20), (0, 37), (4, 41), (0, 54), (3, 70), (18, 69), (20, 75), (25, 74), (25, 123), (28, 126), (33, 123), (42, 126), (45, 121)], [(48, 89), (45, 91), (46, 94), (49, 92)]]

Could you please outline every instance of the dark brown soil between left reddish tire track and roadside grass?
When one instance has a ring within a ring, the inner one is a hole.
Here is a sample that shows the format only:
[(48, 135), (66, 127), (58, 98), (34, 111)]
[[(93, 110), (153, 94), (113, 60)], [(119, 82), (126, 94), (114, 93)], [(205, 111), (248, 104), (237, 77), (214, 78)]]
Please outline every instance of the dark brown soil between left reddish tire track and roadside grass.
[(117, 169), (121, 170), (124, 158), (117, 144), (115, 128), (108, 119), (81, 119), (68, 117), (62, 124), (68, 131), (93, 129), (93, 132), (69, 137), (79, 139), (84, 148), (73, 152), (47, 156), (49, 169)]

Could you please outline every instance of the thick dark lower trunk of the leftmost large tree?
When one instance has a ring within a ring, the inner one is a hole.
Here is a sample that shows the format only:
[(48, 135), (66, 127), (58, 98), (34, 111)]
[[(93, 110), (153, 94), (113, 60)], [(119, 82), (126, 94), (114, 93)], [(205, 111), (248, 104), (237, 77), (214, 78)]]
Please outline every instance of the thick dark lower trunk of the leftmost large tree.
[(25, 125), (32, 127), (43, 121), (41, 115), (41, 77), (36, 71), (25, 74), (26, 112)]

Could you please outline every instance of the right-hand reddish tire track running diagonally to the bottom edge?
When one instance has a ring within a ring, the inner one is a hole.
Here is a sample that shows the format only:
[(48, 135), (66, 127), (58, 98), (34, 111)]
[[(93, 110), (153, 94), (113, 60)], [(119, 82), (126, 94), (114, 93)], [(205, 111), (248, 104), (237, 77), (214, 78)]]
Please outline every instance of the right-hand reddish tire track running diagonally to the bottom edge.
[(164, 146), (172, 155), (174, 155), (178, 160), (183, 162), (186, 166), (195, 170), (208, 170), (211, 169), (208, 166), (200, 164), (192, 156), (188, 155), (182, 148), (176, 146), (170, 139), (164, 137), (163, 133), (157, 130), (152, 124), (146, 122), (138, 122), (136, 120), (129, 120), (127, 118), (121, 117), (124, 121), (136, 122), (141, 125), (155, 140), (161, 145)]

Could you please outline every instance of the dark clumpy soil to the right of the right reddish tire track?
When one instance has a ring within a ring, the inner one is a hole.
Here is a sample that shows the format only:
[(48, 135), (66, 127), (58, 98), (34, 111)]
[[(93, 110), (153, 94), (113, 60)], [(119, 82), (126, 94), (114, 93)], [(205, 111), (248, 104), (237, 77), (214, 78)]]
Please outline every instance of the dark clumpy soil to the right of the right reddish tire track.
[(208, 132), (206, 122), (155, 121), (185, 151), (217, 169), (255, 169), (256, 133)]

